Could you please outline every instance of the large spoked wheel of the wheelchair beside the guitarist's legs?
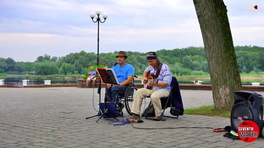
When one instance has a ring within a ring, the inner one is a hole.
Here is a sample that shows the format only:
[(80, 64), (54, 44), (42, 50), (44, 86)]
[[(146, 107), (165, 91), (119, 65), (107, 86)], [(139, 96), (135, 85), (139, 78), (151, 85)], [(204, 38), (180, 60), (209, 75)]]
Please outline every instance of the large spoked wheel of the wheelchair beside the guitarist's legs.
[(135, 98), (136, 91), (138, 89), (135, 86), (128, 87), (125, 91), (125, 109), (129, 115), (132, 115), (131, 113), (131, 107)]

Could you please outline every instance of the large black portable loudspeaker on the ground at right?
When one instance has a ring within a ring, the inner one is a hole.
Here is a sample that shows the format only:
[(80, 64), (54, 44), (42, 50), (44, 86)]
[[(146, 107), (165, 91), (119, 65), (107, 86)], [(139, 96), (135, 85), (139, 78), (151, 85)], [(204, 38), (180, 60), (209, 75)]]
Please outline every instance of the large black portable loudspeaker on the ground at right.
[(240, 123), (245, 120), (254, 121), (261, 132), (263, 121), (263, 103), (262, 95), (250, 91), (234, 92), (234, 105), (231, 111), (231, 130), (237, 133)]

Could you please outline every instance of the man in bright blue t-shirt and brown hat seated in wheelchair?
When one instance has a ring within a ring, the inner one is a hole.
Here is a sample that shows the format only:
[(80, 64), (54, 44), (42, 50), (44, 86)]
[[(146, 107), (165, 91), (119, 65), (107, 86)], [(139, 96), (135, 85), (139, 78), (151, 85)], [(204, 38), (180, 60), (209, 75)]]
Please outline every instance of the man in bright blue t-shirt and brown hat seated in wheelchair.
[(118, 65), (113, 67), (113, 70), (116, 73), (119, 84), (106, 84), (106, 94), (107, 97), (111, 99), (111, 101), (119, 102), (118, 92), (124, 91), (127, 88), (128, 84), (133, 83), (135, 70), (132, 65), (126, 63), (127, 56), (124, 51), (119, 51), (116, 57)]

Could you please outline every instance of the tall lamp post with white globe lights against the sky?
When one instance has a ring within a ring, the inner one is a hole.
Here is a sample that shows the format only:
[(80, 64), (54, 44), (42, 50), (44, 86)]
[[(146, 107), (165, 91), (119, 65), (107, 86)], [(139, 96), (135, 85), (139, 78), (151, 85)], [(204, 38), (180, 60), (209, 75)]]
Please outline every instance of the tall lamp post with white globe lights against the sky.
[[(98, 23), (98, 34), (97, 34), (97, 66), (99, 66), (99, 23), (104, 23), (106, 18), (108, 17), (107, 13), (103, 13), (102, 17), (103, 17), (103, 21), (101, 20), (101, 11), (100, 10), (96, 10), (95, 12), (91, 12), (90, 13), (90, 17), (92, 18), (94, 23)], [(96, 20), (94, 20), (94, 18)]]

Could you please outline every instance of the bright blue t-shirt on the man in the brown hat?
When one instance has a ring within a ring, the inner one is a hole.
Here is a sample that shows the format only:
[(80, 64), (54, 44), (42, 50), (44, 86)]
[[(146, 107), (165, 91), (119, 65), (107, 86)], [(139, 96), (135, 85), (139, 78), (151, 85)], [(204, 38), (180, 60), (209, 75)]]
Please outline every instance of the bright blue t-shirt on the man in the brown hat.
[(125, 80), (127, 80), (128, 76), (134, 76), (135, 75), (135, 70), (134, 67), (131, 66), (130, 64), (125, 64), (123, 67), (119, 67), (119, 64), (115, 67), (113, 67), (113, 70), (116, 73), (118, 82), (121, 83)]

